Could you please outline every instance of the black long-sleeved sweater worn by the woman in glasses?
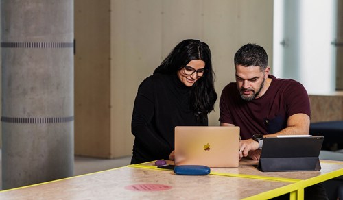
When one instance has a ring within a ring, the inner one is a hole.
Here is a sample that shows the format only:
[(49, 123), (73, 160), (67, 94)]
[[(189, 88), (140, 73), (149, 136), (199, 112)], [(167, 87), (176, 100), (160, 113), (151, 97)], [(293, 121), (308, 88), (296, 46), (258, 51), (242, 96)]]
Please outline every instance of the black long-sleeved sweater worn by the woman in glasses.
[(176, 126), (205, 126), (190, 110), (190, 87), (176, 74), (156, 73), (139, 86), (132, 114), (131, 132), (135, 136), (131, 164), (169, 159), (174, 150)]

